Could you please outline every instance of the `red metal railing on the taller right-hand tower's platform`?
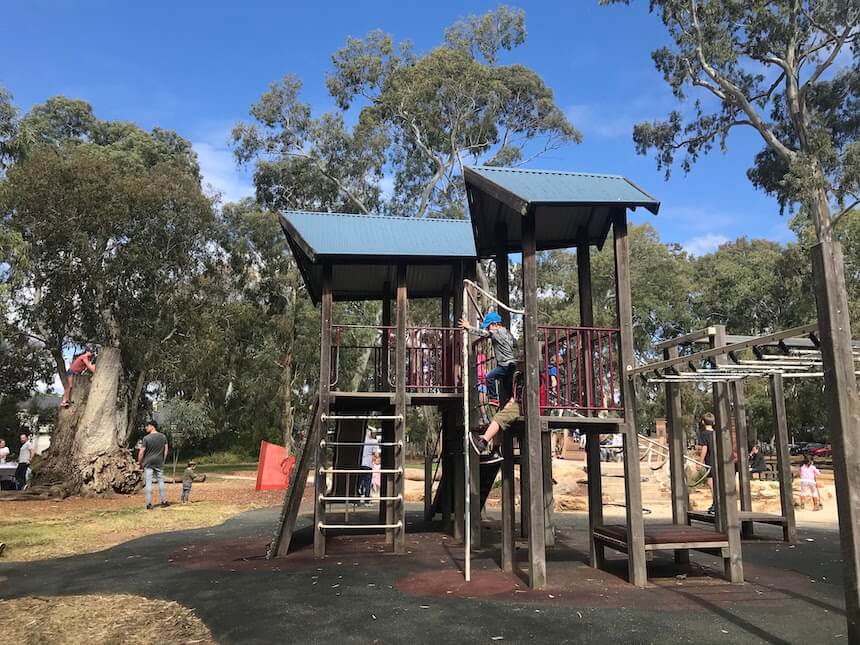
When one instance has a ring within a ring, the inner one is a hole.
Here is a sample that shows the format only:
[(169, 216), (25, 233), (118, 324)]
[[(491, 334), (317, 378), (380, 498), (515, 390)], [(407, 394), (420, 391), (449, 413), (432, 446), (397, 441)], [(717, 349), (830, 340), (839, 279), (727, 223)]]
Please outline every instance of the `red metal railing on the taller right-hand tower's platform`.
[(621, 412), (619, 330), (541, 325), (541, 408)]

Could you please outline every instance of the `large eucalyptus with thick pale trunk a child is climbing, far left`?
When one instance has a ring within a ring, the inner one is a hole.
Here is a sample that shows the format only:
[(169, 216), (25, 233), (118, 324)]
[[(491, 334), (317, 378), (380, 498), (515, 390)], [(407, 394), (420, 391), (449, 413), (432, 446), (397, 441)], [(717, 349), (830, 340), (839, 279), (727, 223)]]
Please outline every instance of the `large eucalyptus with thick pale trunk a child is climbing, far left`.
[(16, 126), (0, 181), (5, 224), (27, 245), (12, 294), (17, 333), (65, 381), (65, 353), (99, 346), (89, 395), (76, 389), (36, 481), (64, 493), (134, 489), (123, 448), (147, 372), (180, 340), (190, 277), (208, 253), (210, 200), (175, 133), (99, 120), (55, 97)]

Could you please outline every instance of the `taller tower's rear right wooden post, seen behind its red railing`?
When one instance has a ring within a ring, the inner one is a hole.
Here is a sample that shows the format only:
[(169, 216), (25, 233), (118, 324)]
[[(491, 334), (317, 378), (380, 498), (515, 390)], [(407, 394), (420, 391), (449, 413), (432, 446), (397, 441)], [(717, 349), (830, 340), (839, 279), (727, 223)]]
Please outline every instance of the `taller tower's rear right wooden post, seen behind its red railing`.
[[(591, 291), (591, 248), (588, 244), (576, 247), (576, 273), (579, 286), (579, 324), (594, 327), (594, 302)], [(577, 383), (583, 392), (589, 391), (592, 382), (591, 349), (582, 343), (582, 362), (585, 365), (584, 383)], [(604, 561), (604, 545), (595, 542), (594, 529), (603, 526), (603, 480), (600, 463), (600, 435), (588, 434), (585, 437), (585, 464), (588, 471), (588, 542), (591, 545), (591, 566), (600, 568)]]

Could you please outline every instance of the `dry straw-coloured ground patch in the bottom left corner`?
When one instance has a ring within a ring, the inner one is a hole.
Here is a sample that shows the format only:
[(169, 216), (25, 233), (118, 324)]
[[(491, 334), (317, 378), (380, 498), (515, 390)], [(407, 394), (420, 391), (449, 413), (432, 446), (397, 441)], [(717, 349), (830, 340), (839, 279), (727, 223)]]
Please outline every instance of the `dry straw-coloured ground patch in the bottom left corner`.
[(8, 643), (216, 643), (191, 609), (126, 594), (3, 600), (0, 633)]

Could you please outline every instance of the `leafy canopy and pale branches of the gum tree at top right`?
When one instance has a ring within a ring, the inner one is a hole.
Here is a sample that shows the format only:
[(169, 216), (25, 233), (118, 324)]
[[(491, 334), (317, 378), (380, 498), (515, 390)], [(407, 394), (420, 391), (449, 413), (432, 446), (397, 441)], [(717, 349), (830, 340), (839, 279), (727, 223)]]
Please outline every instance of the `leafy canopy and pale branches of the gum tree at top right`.
[[(603, 4), (630, 0), (602, 0)], [(651, 0), (671, 45), (654, 63), (679, 101), (634, 128), (637, 150), (667, 173), (687, 171), (729, 133), (753, 128), (764, 149), (749, 176), (785, 205), (800, 204), (818, 236), (860, 199), (860, 8), (856, 0)], [(843, 69), (840, 53), (851, 55)], [(709, 109), (714, 104), (716, 107)], [(837, 214), (837, 217), (839, 215)]]

